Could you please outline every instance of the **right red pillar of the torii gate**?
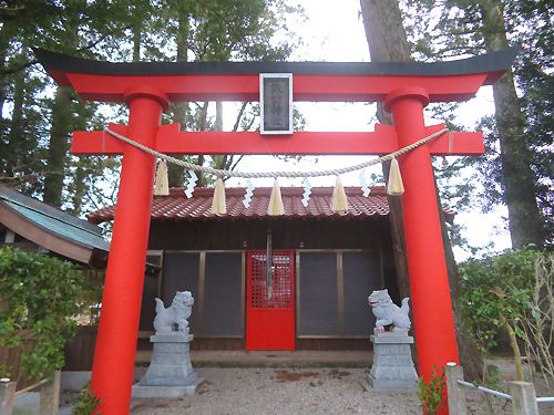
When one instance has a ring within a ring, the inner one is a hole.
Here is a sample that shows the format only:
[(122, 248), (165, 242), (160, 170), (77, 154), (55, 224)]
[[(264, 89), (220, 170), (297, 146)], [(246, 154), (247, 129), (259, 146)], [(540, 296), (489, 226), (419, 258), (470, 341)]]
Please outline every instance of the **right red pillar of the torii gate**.
[[(427, 92), (418, 87), (387, 97), (400, 147), (427, 135), (423, 107), (428, 102)], [(433, 365), (441, 370), (447, 362), (459, 363), (450, 286), (428, 146), (399, 157), (399, 164), (406, 188), (402, 207), (418, 366), (429, 381)]]

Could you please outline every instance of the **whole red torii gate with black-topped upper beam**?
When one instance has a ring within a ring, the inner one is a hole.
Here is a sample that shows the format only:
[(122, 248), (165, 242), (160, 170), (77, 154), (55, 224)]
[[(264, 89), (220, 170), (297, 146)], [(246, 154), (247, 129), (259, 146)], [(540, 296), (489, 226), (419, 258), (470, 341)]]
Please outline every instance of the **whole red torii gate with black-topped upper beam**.
[[(124, 102), (129, 125), (110, 128), (166, 154), (383, 155), (430, 135), (429, 102), (465, 101), (494, 83), (515, 50), (438, 63), (109, 63), (34, 51), (49, 74), (84, 98)], [(384, 102), (393, 126), (375, 133), (308, 133), (261, 138), (258, 132), (181, 132), (161, 126), (175, 101), (258, 101), (260, 73), (293, 73), (294, 101)], [(106, 132), (75, 132), (73, 154), (123, 154), (91, 387), (103, 414), (129, 412), (148, 240), (155, 159)], [(481, 133), (447, 133), (399, 157), (419, 373), (456, 362), (452, 304), (442, 246), (432, 155), (480, 155)]]

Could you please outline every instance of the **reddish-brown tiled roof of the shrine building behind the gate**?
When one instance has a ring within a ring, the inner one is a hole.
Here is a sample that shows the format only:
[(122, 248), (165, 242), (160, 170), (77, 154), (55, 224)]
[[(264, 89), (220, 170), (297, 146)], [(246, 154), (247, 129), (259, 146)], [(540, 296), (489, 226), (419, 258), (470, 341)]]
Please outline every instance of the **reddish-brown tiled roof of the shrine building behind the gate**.
[[(335, 214), (331, 210), (332, 187), (314, 187), (307, 207), (301, 204), (304, 189), (300, 187), (283, 187), (281, 196), (285, 206), (285, 216), (278, 218), (367, 218), (382, 217), (389, 214), (387, 195), (382, 187), (375, 187), (368, 197), (363, 197), (359, 187), (346, 187), (349, 209), (345, 214)], [(245, 188), (227, 188), (225, 190), (227, 201), (226, 215), (213, 215), (212, 200), (213, 188), (196, 188), (193, 197), (187, 198), (182, 188), (173, 188), (167, 196), (154, 196), (152, 204), (152, 219), (166, 220), (198, 220), (217, 218), (223, 219), (256, 219), (267, 218), (267, 206), (271, 188), (257, 187), (250, 201), (250, 206), (243, 205)], [(91, 222), (100, 224), (113, 220), (114, 206), (110, 206), (88, 216)]]

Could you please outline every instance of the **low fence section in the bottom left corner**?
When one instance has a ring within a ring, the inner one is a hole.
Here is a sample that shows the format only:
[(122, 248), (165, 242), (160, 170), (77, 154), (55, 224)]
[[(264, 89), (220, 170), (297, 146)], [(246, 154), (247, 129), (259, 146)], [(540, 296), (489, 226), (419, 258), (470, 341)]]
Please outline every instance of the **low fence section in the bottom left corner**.
[(31, 391), (40, 393), (39, 414), (58, 415), (60, 380), (61, 372), (55, 371), (50, 378), (42, 380), (19, 391), (16, 391), (16, 382), (8, 378), (0, 380), (0, 415), (11, 415), (16, 396)]

